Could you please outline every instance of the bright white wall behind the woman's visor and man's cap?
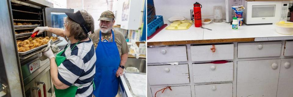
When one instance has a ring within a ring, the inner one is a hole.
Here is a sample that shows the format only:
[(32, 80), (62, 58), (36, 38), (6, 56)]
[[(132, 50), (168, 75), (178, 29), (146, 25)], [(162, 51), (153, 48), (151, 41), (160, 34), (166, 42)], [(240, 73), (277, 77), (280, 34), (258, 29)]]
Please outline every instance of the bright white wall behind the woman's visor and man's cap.
[(74, 9), (74, 12), (82, 9), (86, 10), (94, 18), (95, 29), (99, 29), (98, 19), (102, 12), (108, 10), (108, 5), (106, 0), (67, 0), (67, 8)]

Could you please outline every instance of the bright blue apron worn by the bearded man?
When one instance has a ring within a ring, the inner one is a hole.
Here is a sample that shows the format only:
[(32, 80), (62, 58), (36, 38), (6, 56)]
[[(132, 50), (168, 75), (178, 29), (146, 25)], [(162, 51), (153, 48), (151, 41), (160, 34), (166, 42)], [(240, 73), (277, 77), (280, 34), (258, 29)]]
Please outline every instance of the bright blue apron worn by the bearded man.
[(118, 92), (119, 78), (116, 78), (116, 71), (120, 65), (120, 55), (115, 42), (102, 42), (101, 31), (99, 32), (99, 43), (96, 48), (96, 75), (94, 83), (96, 89), (93, 94), (96, 97), (114, 97)]

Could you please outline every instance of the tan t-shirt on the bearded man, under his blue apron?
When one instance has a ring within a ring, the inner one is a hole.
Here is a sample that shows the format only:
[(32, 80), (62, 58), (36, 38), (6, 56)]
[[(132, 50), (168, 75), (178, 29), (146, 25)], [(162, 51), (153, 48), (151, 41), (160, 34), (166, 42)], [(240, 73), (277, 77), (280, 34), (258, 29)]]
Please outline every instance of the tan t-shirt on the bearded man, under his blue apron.
[[(112, 29), (112, 30), (114, 30), (114, 38), (115, 38), (115, 42), (116, 42), (120, 56), (121, 54), (128, 53), (129, 50), (128, 50), (127, 42), (125, 40), (124, 35), (115, 29)], [(94, 33), (89, 34), (89, 37), (92, 39), (92, 42), (94, 43), (95, 49), (97, 48), (97, 45), (99, 43), (99, 39), (100, 39), (99, 33), (100, 33), (100, 29), (97, 29), (94, 31)], [(108, 33), (108, 34), (102, 33), (102, 38), (109, 40), (111, 38), (111, 34), (112, 33)], [(113, 42), (113, 40), (111, 39), (110, 42)]]

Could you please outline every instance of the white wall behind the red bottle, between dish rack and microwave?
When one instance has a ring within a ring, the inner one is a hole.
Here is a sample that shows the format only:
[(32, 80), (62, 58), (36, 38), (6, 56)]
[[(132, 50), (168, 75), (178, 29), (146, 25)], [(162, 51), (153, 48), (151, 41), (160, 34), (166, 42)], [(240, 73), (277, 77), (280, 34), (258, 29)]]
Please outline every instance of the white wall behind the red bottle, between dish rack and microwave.
[(226, 19), (225, 0), (154, 0), (154, 5), (156, 15), (163, 16), (164, 21), (172, 16), (183, 16), (190, 20), (190, 9), (193, 9), (195, 2), (202, 5), (201, 18), (213, 18), (213, 6), (221, 5), (223, 19)]

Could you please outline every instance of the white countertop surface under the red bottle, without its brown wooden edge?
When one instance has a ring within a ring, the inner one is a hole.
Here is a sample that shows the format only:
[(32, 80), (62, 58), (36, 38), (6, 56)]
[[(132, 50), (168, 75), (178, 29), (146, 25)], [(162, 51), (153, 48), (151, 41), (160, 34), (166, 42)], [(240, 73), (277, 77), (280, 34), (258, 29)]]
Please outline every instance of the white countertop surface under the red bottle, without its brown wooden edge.
[[(166, 23), (165, 23), (166, 24)], [(171, 24), (167, 23), (168, 26)], [(161, 30), (147, 42), (163, 42), (163, 41), (185, 41), (185, 40), (215, 40), (215, 39), (235, 39), (235, 38), (267, 38), (267, 37), (283, 37), (293, 39), (293, 34), (283, 35), (275, 30), (273, 24), (257, 24), (239, 26), (237, 31), (232, 30), (230, 23), (215, 24), (210, 23), (203, 25), (205, 28), (196, 28), (194, 24), (186, 30)]]

